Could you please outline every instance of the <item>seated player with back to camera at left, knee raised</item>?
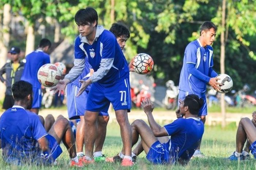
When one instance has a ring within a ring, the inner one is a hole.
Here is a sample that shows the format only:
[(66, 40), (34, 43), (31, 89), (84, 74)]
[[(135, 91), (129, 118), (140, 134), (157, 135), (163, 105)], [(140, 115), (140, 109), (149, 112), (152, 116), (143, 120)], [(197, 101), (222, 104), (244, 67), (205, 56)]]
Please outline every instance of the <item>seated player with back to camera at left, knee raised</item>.
[(66, 118), (58, 118), (46, 133), (38, 115), (27, 111), (33, 102), (32, 85), (18, 81), (12, 86), (14, 106), (0, 117), (0, 146), (3, 160), (23, 165), (51, 165), (62, 153), (61, 140), (71, 158), (71, 166), (79, 166), (71, 127)]

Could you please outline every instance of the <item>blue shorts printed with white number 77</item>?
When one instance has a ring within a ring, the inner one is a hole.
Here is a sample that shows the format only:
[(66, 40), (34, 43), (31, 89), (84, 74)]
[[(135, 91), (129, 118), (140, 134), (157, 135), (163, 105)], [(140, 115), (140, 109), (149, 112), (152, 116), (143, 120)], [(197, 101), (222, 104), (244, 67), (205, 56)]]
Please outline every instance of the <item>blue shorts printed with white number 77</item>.
[(115, 84), (104, 85), (95, 82), (91, 85), (86, 108), (91, 112), (108, 112), (110, 102), (114, 110), (131, 110), (129, 78), (118, 80)]

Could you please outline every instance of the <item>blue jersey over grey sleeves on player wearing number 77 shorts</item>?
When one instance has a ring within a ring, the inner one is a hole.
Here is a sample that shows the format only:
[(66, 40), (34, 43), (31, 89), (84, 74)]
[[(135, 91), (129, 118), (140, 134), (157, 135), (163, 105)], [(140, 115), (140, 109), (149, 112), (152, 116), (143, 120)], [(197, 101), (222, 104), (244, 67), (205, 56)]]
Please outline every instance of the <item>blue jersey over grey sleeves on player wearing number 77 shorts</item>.
[[(99, 31), (101, 27), (97, 27)], [(75, 39), (75, 60), (88, 57), (91, 67), (94, 69), (94, 75), (91, 80), (94, 82), (94, 77), (99, 76), (97, 71), (101, 68), (106, 68), (109, 65), (109, 71), (101, 79), (97, 79), (101, 84), (114, 84), (117, 80), (127, 78), (129, 76), (128, 63), (125, 60), (124, 54), (117, 43), (116, 37), (108, 30), (102, 30), (93, 41), (93, 44), (88, 44), (86, 37), (78, 36)], [(83, 39), (85, 39), (83, 41)], [(113, 64), (108, 62), (113, 62)], [(102, 71), (102, 70), (100, 70)], [(105, 72), (105, 70), (103, 71)]]

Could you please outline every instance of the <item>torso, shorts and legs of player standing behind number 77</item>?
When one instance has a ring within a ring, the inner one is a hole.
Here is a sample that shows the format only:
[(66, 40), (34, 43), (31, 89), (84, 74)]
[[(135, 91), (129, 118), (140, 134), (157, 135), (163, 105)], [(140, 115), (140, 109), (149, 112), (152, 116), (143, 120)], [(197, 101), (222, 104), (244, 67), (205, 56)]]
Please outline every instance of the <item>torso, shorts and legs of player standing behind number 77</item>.
[[(70, 120), (75, 120), (80, 118), (80, 122), (76, 127), (76, 151), (79, 162), (84, 162), (84, 131), (86, 127), (84, 126), (84, 113), (86, 110), (86, 102), (88, 98), (88, 93), (90, 87), (88, 86), (86, 90), (79, 96), (76, 97), (78, 90), (81, 86), (79, 80), (87, 80), (90, 77), (91, 65), (88, 62), (88, 58), (85, 58), (85, 67), (81, 75), (72, 83), (67, 85), (67, 107), (68, 107), (68, 117)], [(106, 137), (106, 126), (109, 121), (109, 115), (106, 112), (100, 112), (98, 116), (98, 136), (95, 140), (95, 152), (94, 160), (95, 162), (105, 160), (105, 156), (102, 154), (103, 143)]]

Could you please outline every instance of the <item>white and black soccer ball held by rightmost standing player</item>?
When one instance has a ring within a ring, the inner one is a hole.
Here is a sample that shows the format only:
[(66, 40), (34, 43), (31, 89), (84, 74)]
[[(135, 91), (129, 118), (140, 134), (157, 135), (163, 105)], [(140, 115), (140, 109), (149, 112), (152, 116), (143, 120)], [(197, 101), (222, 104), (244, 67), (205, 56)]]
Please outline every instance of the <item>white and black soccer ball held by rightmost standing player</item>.
[(232, 87), (233, 87), (233, 80), (231, 79), (231, 77), (227, 74), (219, 74), (217, 76), (217, 78), (219, 78), (220, 80), (218, 80), (218, 83), (221, 83), (222, 86), (220, 87), (221, 90), (219, 90), (218, 92), (220, 93), (227, 93), (229, 92)]

